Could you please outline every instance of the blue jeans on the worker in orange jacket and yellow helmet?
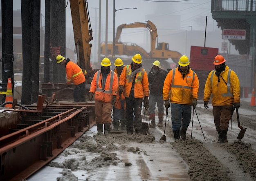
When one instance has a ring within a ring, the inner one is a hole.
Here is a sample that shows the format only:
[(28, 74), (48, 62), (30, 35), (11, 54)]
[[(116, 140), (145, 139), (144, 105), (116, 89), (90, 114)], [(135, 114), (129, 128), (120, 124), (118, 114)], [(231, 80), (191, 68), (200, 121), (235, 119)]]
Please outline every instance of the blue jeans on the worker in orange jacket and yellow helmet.
[(180, 130), (180, 126), (187, 128), (191, 120), (191, 105), (171, 103), (173, 131)]

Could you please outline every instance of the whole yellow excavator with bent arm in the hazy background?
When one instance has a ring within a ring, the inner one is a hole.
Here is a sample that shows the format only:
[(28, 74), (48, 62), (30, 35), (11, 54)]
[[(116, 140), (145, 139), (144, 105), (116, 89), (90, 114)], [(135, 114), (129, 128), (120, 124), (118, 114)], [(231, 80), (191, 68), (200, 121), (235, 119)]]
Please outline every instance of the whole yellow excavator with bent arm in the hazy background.
[[(150, 32), (150, 52), (147, 52), (144, 48), (136, 45), (135, 43), (126, 43), (119, 41), (122, 29), (124, 28), (147, 28)], [(116, 56), (134, 56), (135, 54), (141, 54), (143, 60), (150, 63), (154, 60), (159, 60), (162, 64), (166, 65), (166, 60), (171, 58), (174, 63), (178, 63), (179, 58), (182, 56), (180, 52), (169, 49), (169, 44), (166, 42), (158, 42), (157, 40), (157, 28), (153, 22), (148, 20), (145, 22), (134, 22), (130, 24), (123, 24), (117, 27), (117, 33), (115, 36), (115, 47), (113, 50), (113, 44), (108, 43), (107, 55)], [(157, 46), (156, 46), (157, 44)], [(101, 54), (105, 54), (105, 42), (101, 43)], [(122, 59), (123, 60), (123, 59)], [(130, 59), (129, 59), (130, 60)], [(164, 63), (165, 61), (165, 63)], [(153, 62), (152, 62), (153, 63)], [(151, 65), (150, 65), (151, 66)], [(168, 63), (168, 67), (170, 64)]]

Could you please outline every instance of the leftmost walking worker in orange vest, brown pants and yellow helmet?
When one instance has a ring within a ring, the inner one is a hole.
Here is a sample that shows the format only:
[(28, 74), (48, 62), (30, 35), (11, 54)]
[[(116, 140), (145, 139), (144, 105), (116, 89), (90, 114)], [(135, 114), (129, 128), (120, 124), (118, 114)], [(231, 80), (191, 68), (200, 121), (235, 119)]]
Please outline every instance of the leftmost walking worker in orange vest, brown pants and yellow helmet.
[(118, 91), (118, 77), (110, 70), (109, 58), (101, 61), (101, 70), (97, 71), (92, 79), (89, 91), (89, 99), (92, 101), (95, 93), (95, 117), (97, 123), (97, 134), (108, 134), (111, 130), (112, 105), (116, 103)]

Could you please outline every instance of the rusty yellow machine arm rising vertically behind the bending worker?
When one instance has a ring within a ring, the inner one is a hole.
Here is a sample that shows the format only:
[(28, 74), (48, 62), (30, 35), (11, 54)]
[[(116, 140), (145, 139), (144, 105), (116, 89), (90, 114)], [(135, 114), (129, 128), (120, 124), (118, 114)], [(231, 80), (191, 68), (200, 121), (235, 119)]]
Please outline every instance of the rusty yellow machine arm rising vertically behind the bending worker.
[(90, 41), (93, 37), (88, 13), (88, 2), (87, 0), (70, 0), (70, 9), (77, 52), (77, 64), (86, 71), (89, 71), (92, 48)]

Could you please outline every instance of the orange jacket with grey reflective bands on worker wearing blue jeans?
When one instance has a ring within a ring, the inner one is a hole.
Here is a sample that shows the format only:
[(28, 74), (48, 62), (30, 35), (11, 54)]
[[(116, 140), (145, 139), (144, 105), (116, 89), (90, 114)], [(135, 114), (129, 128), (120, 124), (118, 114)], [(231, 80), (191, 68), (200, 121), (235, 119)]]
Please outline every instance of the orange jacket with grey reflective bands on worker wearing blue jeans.
[(164, 80), (163, 99), (170, 99), (171, 103), (191, 104), (193, 98), (198, 99), (199, 80), (195, 72), (182, 76), (178, 67), (172, 69)]

